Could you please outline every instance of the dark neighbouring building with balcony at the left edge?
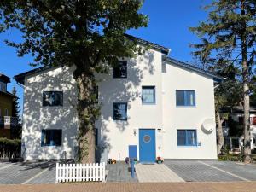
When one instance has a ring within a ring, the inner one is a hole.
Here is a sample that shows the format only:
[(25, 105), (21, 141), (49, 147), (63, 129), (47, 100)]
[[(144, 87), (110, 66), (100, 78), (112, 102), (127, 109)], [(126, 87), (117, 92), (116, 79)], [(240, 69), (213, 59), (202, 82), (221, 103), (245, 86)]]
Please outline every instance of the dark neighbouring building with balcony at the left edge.
[(18, 119), (12, 117), (15, 96), (7, 91), (9, 77), (0, 73), (0, 137), (11, 137), (11, 129), (15, 129)]

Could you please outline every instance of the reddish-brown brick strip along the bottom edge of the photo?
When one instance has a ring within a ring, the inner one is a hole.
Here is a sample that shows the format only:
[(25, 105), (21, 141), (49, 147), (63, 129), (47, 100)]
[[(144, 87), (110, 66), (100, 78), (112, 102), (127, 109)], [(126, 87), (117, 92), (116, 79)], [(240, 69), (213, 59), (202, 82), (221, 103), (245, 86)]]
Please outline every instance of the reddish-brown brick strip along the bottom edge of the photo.
[(0, 185), (0, 192), (256, 192), (256, 182)]

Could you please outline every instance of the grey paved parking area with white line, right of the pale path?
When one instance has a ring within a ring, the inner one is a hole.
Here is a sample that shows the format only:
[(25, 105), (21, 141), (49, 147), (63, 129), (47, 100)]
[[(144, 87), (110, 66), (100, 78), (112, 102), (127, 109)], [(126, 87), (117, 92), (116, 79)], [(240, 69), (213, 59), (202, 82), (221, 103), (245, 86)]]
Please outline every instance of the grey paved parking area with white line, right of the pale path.
[(256, 181), (256, 166), (218, 160), (166, 160), (186, 182)]

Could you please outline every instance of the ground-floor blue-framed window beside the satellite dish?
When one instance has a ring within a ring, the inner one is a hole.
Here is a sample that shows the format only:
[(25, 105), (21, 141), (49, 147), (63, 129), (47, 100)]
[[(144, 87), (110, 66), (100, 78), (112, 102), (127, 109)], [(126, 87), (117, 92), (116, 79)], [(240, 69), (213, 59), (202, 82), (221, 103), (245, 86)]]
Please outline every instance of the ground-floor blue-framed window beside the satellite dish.
[(177, 130), (177, 146), (197, 146), (196, 130)]

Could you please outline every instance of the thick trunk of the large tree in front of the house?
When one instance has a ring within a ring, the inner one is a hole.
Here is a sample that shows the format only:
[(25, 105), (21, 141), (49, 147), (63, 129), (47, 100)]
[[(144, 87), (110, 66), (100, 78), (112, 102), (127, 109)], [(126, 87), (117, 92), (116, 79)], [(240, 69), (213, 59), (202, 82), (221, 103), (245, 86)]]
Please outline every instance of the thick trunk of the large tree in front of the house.
[[(81, 72), (82, 71), (82, 72)], [(97, 117), (95, 86), (93, 73), (77, 69), (74, 72), (78, 86), (79, 117), (79, 162), (95, 162), (95, 121)]]

